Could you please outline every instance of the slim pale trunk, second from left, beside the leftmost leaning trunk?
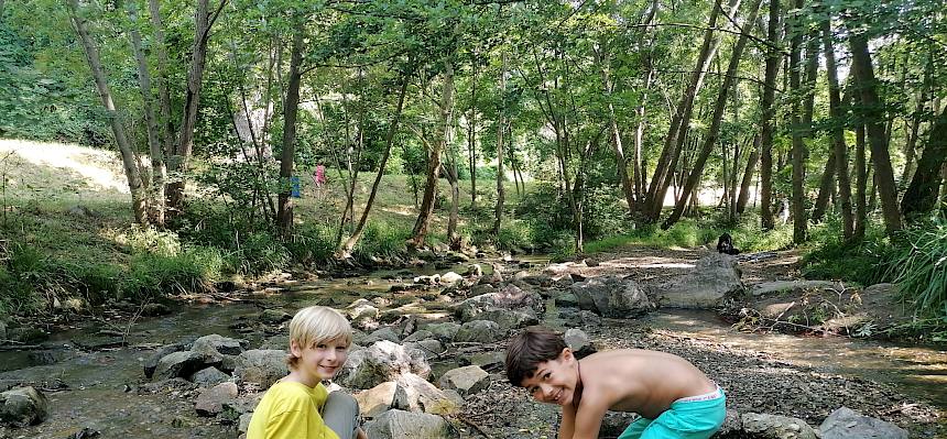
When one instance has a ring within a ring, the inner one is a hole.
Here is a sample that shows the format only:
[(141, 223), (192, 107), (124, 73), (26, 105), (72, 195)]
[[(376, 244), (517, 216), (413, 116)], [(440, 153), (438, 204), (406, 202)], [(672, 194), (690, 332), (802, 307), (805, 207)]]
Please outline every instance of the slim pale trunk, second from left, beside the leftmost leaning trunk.
[(138, 65), (139, 88), (141, 88), (142, 108), (144, 109), (145, 127), (148, 129), (148, 147), (151, 156), (151, 199), (148, 205), (150, 207), (151, 222), (160, 229), (164, 228), (164, 185), (167, 169), (164, 166), (164, 151), (162, 151), (161, 142), (157, 139), (157, 118), (154, 114), (151, 97), (151, 74), (148, 72), (148, 62), (144, 57), (144, 51), (141, 48), (141, 35), (138, 32), (138, 11), (135, 3), (129, 1), (126, 3), (129, 20), (131, 21), (131, 47), (134, 52), (134, 59)]

